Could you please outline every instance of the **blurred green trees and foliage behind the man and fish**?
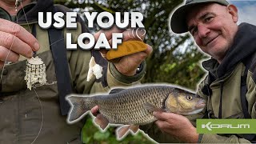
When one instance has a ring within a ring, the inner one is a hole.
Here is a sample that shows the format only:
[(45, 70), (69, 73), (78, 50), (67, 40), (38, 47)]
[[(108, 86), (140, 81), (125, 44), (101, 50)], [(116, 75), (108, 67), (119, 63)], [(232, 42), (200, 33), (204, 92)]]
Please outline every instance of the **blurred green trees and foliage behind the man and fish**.
[[(54, 3), (81, 14), (83, 11), (108, 11), (112, 14), (116, 11), (141, 12), (146, 30), (144, 42), (153, 47), (153, 53), (146, 59), (146, 75), (142, 82), (166, 82), (195, 90), (204, 75), (199, 61), (206, 56), (198, 51), (190, 35), (172, 34), (169, 31), (170, 14), (182, 0), (54, 0)], [(113, 127), (102, 133), (90, 118), (82, 135), (85, 143), (152, 143), (141, 133), (135, 136), (130, 134), (117, 141)]]

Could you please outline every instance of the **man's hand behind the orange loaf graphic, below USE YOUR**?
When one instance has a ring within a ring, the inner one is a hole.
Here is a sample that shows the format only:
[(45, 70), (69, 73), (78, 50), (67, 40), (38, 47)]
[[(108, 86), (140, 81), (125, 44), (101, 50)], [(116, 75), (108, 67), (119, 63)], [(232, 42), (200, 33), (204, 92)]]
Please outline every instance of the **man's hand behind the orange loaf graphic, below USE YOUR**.
[[(112, 45), (112, 33), (122, 33), (123, 38), (122, 42), (126, 42), (129, 40), (138, 40), (142, 41), (144, 39), (144, 32), (138, 30), (138, 36), (136, 34), (132, 34), (132, 30), (120, 30), (116, 26), (113, 26), (110, 30), (100, 30), (98, 33), (94, 34), (94, 38), (98, 39), (101, 33), (106, 34), (106, 38), (109, 40), (110, 46)], [(140, 38), (142, 39), (140, 39)], [(100, 50), (102, 57), (106, 58), (106, 53), (108, 50)], [(133, 76), (136, 74), (136, 70), (138, 66), (142, 63), (142, 61), (151, 54), (152, 47), (147, 45), (147, 49), (142, 52), (138, 52), (135, 54), (130, 54), (122, 57), (118, 62), (114, 62), (114, 66), (118, 69), (118, 71), (126, 76)]]

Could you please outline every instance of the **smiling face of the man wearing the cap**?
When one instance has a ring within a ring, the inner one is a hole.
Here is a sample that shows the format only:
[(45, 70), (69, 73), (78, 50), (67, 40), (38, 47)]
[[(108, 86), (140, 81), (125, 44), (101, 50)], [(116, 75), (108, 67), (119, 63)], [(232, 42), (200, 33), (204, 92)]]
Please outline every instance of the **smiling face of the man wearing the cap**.
[(217, 3), (201, 4), (189, 11), (186, 22), (201, 50), (221, 63), (238, 30), (237, 8)]

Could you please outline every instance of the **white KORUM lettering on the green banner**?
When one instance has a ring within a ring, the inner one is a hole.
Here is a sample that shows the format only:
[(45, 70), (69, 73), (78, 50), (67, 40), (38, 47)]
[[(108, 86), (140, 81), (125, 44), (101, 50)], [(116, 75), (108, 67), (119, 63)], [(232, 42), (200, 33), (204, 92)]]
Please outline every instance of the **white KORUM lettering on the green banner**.
[(211, 122), (208, 122), (207, 124), (202, 124), (202, 129), (222, 129), (222, 128), (228, 128), (228, 129), (250, 129), (250, 124), (212, 124)]

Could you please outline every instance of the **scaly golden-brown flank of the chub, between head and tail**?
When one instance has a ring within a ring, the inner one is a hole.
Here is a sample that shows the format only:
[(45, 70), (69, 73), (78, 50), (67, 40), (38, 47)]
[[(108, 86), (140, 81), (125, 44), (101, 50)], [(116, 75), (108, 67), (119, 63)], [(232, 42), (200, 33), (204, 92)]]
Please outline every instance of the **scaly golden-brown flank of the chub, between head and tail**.
[[(99, 110), (110, 123), (143, 125), (154, 122), (152, 112), (145, 110), (143, 105), (150, 102), (158, 108), (163, 108), (166, 99), (173, 87), (149, 86), (145, 88), (134, 88), (134, 90), (122, 90), (118, 94), (102, 96), (98, 98)], [(107, 99), (107, 101), (106, 101)], [(146, 121), (146, 122), (145, 122)]]

